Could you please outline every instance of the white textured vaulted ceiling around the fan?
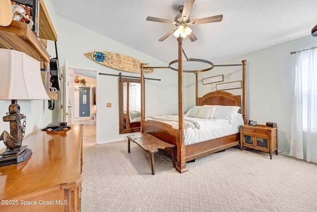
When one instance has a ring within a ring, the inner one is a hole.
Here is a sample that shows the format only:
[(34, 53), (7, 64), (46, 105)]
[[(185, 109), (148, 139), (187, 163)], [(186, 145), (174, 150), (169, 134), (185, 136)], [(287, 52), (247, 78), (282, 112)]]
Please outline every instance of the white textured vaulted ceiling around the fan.
[[(57, 15), (169, 63), (177, 59), (177, 40), (173, 35), (158, 40), (175, 25), (146, 17), (174, 20), (184, 1), (53, 0), (53, 4)], [(191, 20), (219, 14), (223, 19), (192, 25), (198, 40), (186, 38), (183, 48), (188, 58), (223, 61), (311, 34), (316, 11), (317, 0), (196, 0)]]

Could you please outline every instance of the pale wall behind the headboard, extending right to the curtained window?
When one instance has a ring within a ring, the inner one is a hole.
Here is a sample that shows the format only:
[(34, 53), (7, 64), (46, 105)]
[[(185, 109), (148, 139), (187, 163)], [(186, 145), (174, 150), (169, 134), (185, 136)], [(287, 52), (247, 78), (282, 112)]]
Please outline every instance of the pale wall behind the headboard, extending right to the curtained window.
[[(292, 74), (295, 59), (295, 56), (290, 53), (316, 45), (317, 38), (307, 35), (216, 64), (241, 64), (242, 60), (247, 60), (248, 119), (258, 121), (258, 124), (277, 123), (278, 149), (286, 153), (290, 151), (291, 141)], [(233, 74), (231, 80), (226, 77), (228, 73)], [(225, 82), (241, 80), (242, 68), (215, 67), (211, 71), (200, 73), (200, 97), (211, 92), (211, 85), (203, 85), (202, 79), (219, 74), (224, 74)], [(195, 96), (195, 77), (191, 76), (187, 79), (188, 107), (191, 107), (195, 104), (195, 98), (193, 98)], [(242, 89), (229, 91), (235, 95), (242, 95)]]

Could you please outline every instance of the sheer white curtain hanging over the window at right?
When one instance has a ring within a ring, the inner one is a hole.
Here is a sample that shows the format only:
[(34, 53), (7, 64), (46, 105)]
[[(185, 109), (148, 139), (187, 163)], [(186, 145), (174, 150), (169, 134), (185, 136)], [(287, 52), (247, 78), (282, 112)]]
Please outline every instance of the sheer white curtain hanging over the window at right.
[(290, 155), (317, 163), (317, 48), (296, 53), (293, 73)]

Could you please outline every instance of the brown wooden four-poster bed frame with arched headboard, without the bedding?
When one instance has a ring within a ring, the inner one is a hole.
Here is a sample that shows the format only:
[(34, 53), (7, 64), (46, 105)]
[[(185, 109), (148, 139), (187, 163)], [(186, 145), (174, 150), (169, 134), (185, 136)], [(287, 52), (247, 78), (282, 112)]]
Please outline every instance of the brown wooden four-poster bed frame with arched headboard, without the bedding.
[[(182, 38), (179, 37), (179, 54), (178, 61), (182, 61)], [(242, 61), (243, 67), (243, 79), (242, 79), (242, 105), (241, 96), (233, 95), (224, 91), (213, 91), (205, 94), (203, 97), (198, 98), (198, 73), (196, 74), (196, 106), (203, 105), (218, 105), (219, 106), (236, 106), (241, 107), (240, 125), (246, 123), (246, 61)], [(186, 162), (205, 156), (210, 153), (218, 152), (223, 149), (238, 145), (240, 143), (239, 130), (235, 131), (231, 135), (223, 136), (220, 138), (202, 140), (193, 144), (186, 144), (184, 141), (184, 115), (183, 115), (183, 68), (182, 62), (178, 63), (178, 125), (177, 128), (173, 128), (170, 124), (162, 121), (147, 119), (145, 120), (145, 93), (144, 93), (144, 76), (143, 76), (143, 64), (141, 64), (141, 133), (149, 133), (156, 138), (165, 141), (167, 143), (174, 144), (177, 147), (175, 155), (177, 156), (176, 170), (180, 173), (187, 171)], [(204, 107), (204, 106), (203, 106)], [(212, 107), (212, 106), (211, 106)], [(236, 108), (235, 107), (235, 108)], [(186, 115), (185, 115), (186, 116)], [(238, 117), (239, 115), (237, 115)], [(186, 117), (187, 118), (187, 117)], [(241, 122), (242, 120), (242, 122)], [(232, 123), (231, 123), (232, 124)], [(239, 128), (239, 126), (238, 126)]]

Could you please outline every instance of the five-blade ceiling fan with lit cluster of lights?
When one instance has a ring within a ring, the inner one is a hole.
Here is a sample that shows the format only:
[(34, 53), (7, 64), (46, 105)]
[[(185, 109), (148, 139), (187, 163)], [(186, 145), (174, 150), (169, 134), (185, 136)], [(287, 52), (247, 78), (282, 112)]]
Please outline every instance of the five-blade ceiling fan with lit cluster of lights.
[(195, 0), (185, 0), (184, 6), (181, 5), (178, 8), (180, 14), (176, 15), (174, 21), (166, 20), (162, 18), (156, 17), (147, 17), (147, 21), (155, 21), (160, 23), (170, 23), (175, 24), (177, 27), (167, 32), (163, 37), (159, 39), (159, 41), (165, 40), (168, 36), (173, 34), (175, 37), (183, 37), (188, 38), (194, 42), (197, 40), (197, 37), (192, 33), (192, 30), (188, 27), (188, 25), (197, 25), (202, 23), (212, 23), (212, 22), (220, 22), (222, 20), (222, 15), (216, 15), (206, 18), (200, 18), (196, 20), (190, 20), (189, 13), (193, 7)]

